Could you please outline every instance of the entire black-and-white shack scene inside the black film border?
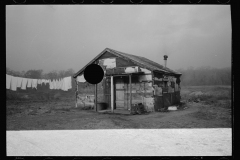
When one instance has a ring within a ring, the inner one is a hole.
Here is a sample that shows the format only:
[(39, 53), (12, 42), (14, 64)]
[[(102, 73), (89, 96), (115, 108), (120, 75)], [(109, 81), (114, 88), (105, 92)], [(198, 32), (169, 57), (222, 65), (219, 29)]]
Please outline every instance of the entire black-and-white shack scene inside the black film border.
[(7, 5), (7, 156), (231, 156), (230, 5)]

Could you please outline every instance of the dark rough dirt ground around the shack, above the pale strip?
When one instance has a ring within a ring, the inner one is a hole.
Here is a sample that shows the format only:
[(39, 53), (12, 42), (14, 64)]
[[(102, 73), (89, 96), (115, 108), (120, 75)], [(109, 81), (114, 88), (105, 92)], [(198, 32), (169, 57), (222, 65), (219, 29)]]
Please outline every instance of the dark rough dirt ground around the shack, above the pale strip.
[(75, 108), (75, 99), (7, 101), (7, 130), (231, 128), (230, 87), (182, 87), (177, 111), (142, 115)]

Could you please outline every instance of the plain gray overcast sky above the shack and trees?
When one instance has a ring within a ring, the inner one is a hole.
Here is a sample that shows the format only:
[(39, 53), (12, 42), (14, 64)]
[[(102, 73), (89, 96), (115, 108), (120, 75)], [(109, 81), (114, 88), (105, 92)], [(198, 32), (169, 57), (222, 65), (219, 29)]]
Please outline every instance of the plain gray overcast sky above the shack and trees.
[(229, 5), (6, 7), (6, 63), (16, 71), (80, 70), (105, 48), (171, 69), (231, 66)]

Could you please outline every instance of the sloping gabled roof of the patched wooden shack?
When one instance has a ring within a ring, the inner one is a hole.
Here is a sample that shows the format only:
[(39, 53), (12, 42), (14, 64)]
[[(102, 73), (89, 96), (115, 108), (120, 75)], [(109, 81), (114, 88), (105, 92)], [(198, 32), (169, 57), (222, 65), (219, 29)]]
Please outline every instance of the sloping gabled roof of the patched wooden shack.
[(103, 50), (99, 55), (97, 55), (97, 57), (95, 57), (92, 61), (90, 61), (86, 66), (84, 66), (80, 71), (78, 71), (73, 77), (77, 77), (79, 74), (81, 74), (83, 72), (83, 70), (89, 65), (92, 64), (94, 61), (96, 61), (102, 54), (104, 54), (105, 52), (109, 52), (112, 53), (118, 57), (122, 57), (128, 60), (131, 60), (133, 63), (139, 65), (140, 67), (149, 69), (151, 71), (160, 71), (160, 72), (164, 72), (167, 74), (175, 74), (175, 75), (181, 75), (181, 73), (176, 72), (174, 70), (171, 70), (167, 67), (164, 67), (156, 62), (153, 62), (147, 58), (144, 57), (140, 57), (140, 56), (136, 56), (136, 55), (131, 55), (128, 53), (123, 53), (123, 52), (119, 52), (110, 48), (106, 48), (105, 50)]

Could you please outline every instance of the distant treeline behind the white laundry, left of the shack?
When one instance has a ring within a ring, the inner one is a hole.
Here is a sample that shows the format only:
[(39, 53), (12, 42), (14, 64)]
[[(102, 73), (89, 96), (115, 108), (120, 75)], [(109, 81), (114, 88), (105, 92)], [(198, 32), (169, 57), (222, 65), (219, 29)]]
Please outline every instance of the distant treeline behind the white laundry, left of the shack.
[(43, 70), (28, 70), (28, 71), (14, 71), (6, 68), (6, 73), (16, 77), (33, 78), (33, 79), (58, 79), (68, 76), (73, 76), (75, 73), (73, 69), (60, 70), (60, 71), (50, 71), (48, 73), (43, 73)]

